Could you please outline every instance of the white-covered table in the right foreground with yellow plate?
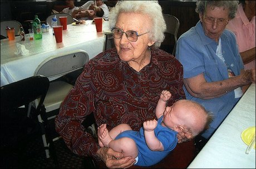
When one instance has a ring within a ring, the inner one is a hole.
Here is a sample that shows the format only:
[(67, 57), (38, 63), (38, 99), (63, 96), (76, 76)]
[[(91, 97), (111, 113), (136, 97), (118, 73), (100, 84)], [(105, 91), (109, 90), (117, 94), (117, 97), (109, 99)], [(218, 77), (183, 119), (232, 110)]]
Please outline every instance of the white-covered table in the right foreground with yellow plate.
[(255, 168), (255, 150), (252, 148), (245, 154), (247, 145), (240, 137), (252, 126), (255, 126), (255, 84), (250, 85), (188, 168)]

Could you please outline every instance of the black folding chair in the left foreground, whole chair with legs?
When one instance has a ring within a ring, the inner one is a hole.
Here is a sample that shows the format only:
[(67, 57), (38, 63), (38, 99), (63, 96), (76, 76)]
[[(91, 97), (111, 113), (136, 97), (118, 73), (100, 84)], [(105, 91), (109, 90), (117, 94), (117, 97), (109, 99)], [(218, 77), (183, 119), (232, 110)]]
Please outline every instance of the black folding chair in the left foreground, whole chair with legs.
[[(7, 160), (22, 158), (22, 154), (25, 151), (24, 147), (26, 147), (24, 145), (26, 145), (29, 137), (33, 135), (29, 131), (33, 130), (35, 123), (39, 122), (47, 158), (51, 155), (58, 167), (55, 147), (48, 128), (45, 106), (43, 105), (49, 84), (47, 77), (38, 75), (1, 87), (0, 140), (1, 153), (4, 153), (1, 157)], [(27, 117), (29, 103), (37, 99), (40, 101), (35, 107), (35, 111), (31, 113), (31, 116)], [(37, 117), (38, 122), (33, 121), (33, 116)], [(11, 161), (6, 167), (10, 167), (8, 165), (14, 164)]]

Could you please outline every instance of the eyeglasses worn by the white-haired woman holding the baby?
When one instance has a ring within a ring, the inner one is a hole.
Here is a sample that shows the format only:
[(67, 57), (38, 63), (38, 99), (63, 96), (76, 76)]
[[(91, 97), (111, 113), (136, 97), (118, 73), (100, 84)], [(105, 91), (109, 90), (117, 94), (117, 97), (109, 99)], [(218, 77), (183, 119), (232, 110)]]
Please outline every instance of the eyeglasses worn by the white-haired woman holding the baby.
[(122, 34), (125, 33), (127, 39), (131, 42), (136, 42), (139, 36), (149, 33), (149, 32), (146, 32), (146, 33), (138, 34), (136, 31), (124, 32), (122, 31), (122, 29), (119, 29), (119, 28), (112, 28), (111, 32), (113, 34), (113, 37), (116, 39), (120, 39), (122, 37)]

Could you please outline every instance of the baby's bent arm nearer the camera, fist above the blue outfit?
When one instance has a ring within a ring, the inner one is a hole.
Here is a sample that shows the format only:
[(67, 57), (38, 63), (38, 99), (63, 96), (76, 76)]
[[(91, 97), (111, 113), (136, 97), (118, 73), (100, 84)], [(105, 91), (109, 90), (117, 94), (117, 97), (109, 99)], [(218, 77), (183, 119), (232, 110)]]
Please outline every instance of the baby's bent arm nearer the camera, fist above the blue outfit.
[(149, 120), (149, 121), (145, 121), (143, 123), (145, 141), (147, 143), (147, 147), (149, 147), (150, 150), (163, 151), (164, 146), (155, 136), (154, 130), (155, 130), (156, 126), (157, 126), (156, 120)]

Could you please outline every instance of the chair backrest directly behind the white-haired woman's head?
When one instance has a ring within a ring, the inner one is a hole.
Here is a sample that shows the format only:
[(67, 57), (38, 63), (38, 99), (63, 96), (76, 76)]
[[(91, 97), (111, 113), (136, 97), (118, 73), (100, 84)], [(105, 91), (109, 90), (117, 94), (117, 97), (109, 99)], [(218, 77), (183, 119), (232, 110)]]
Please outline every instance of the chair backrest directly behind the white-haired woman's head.
[(180, 22), (179, 19), (170, 14), (163, 14), (165, 23), (166, 23), (166, 33), (170, 33), (174, 35), (175, 45), (173, 49), (173, 56), (175, 55), (176, 42), (177, 42), (177, 34), (179, 31)]

